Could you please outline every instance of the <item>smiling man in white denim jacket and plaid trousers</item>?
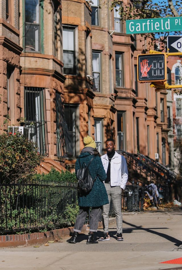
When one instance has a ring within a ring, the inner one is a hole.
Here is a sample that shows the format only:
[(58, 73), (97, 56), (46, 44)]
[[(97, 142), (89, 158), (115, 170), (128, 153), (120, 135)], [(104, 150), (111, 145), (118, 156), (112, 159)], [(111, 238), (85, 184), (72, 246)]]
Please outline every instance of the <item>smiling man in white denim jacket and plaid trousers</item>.
[(110, 240), (109, 236), (109, 208), (110, 201), (112, 202), (113, 209), (116, 215), (117, 226), (117, 241), (123, 241), (123, 217), (121, 213), (121, 192), (125, 189), (128, 180), (128, 169), (126, 159), (115, 152), (115, 142), (109, 138), (106, 140), (107, 154), (101, 157), (102, 164), (107, 174), (105, 180), (105, 187), (109, 199), (109, 204), (103, 205), (103, 227), (104, 233), (99, 241)]

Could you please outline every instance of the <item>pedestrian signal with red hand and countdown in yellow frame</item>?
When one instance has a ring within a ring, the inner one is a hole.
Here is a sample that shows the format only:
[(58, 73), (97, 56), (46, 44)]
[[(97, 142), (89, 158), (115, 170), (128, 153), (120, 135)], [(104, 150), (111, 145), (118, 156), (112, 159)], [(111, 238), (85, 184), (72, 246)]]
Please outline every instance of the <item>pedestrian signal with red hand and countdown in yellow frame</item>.
[(166, 54), (138, 54), (137, 79), (138, 82), (166, 81)]

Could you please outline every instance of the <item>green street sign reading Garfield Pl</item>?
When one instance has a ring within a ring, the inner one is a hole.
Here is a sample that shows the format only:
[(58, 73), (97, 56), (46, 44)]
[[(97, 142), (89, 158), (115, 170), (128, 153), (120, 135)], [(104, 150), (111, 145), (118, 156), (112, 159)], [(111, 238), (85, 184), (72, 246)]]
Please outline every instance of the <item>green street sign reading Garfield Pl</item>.
[(182, 17), (126, 20), (127, 34), (171, 32), (182, 30)]

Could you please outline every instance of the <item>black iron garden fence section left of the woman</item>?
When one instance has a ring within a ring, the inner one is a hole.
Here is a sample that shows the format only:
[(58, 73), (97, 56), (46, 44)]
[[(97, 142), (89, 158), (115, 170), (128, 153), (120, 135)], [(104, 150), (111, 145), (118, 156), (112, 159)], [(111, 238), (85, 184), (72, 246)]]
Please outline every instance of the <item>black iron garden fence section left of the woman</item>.
[(64, 223), (67, 206), (76, 206), (74, 184), (0, 184), (0, 233)]

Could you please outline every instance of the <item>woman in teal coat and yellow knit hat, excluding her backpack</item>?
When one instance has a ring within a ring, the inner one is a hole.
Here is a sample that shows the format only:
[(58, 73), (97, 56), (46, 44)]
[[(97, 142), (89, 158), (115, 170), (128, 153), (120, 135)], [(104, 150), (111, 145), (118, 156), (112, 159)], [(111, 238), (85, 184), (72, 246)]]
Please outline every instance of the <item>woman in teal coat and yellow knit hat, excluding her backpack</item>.
[(78, 195), (78, 205), (80, 206), (79, 213), (76, 217), (73, 236), (67, 240), (68, 243), (75, 244), (78, 232), (81, 232), (84, 225), (86, 216), (90, 207), (92, 207), (90, 214), (90, 232), (86, 244), (97, 244), (94, 240), (94, 232), (97, 232), (99, 217), (102, 212), (102, 205), (108, 204), (108, 196), (103, 181), (107, 178), (106, 172), (102, 165), (99, 152), (96, 149), (96, 143), (92, 137), (87, 136), (83, 139), (84, 149), (81, 151), (80, 156), (76, 160), (75, 172), (77, 173), (80, 165), (83, 163), (88, 165), (90, 160), (94, 157), (89, 165), (89, 172), (92, 179), (95, 179), (92, 190), (86, 194)]

